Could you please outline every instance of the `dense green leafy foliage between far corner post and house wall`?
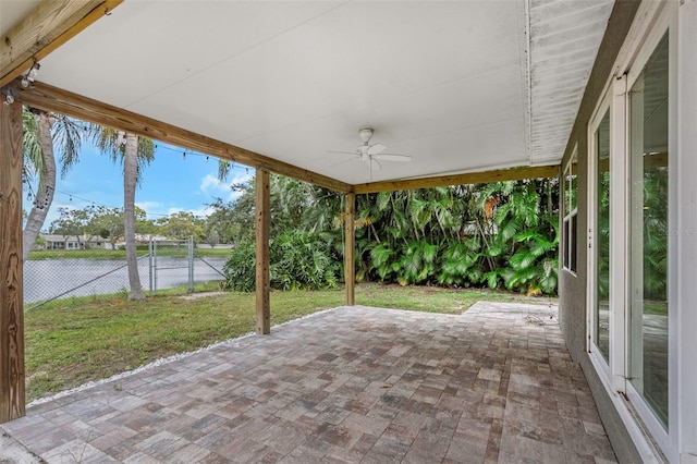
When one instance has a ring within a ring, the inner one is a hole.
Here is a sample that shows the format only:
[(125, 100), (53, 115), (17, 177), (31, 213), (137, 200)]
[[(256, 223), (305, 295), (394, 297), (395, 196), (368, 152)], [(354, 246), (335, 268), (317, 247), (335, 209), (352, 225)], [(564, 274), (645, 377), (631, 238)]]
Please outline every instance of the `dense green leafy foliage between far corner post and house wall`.
[(554, 294), (557, 200), (557, 180), (359, 197), (356, 215), (371, 218), (371, 233), (356, 231), (357, 266), (368, 278), (402, 285)]

